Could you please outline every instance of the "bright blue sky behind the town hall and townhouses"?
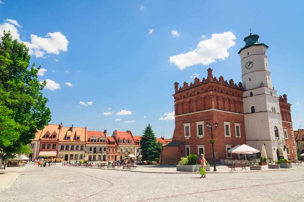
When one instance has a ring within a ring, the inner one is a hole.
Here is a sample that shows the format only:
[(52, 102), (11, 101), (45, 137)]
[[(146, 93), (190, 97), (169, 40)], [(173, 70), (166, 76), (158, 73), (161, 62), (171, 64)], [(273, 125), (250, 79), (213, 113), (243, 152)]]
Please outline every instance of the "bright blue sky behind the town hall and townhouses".
[[(52, 112), (50, 123), (107, 129), (109, 135), (116, 128), (140, 135), (150, 123), (156, 136), (164, 131), (169, 138), (174, 120), (159, 118), (174, 111), (174, 82), (190, 83), (195, 72), (202, 79), (209, 67), (217, 78), (223, 75), (224, 79), (240, 82), (237, 52), (245, 45), (243, 39), (250, 28), (260, 36), (259, 42), (269, 46), (272, 82), (279, 95), (288, 95), (294, 128), (304, 123), (301, 1), (1, 2), (0, 28), (10, 26), (5, 23), (15, 24), (20, 40), (33, 43), (36, 50), (43, 52), (31, 57), (32, 63), (47, 69), (39, 79), (60, 85), (60, 89), (43, 89)], [(177, 31), (175, 36), (173, 30)], [(54, 32), (60, 32), (60, 47), (43, 40), (50, 39), (47, 33)], [(192, 51), (200, 41), (224, 32), (236, 37), (230, 39), (235, 45), (227, 48), (229, 56), (225, 59), (190, 65), (183, 70), (170, 63), (170, 56)], [(35, 35), (41, 40), (31, 41), (31, 34), (33, 40)], [(121, 110), (130, 110), (132, 114), (117, 115)], [(104, 112), (112, 115), (103, 115)]]

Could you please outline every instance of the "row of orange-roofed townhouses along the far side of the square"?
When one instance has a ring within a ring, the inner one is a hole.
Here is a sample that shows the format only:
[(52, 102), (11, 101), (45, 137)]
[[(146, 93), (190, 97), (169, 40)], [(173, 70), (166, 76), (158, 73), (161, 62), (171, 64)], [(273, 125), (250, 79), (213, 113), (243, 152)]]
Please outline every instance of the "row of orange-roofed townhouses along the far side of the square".
[[(30, 144), (33, 159), (113, 161), (140, 159), (140, 136), (130, 130), (89, 131), (87, 127), (71, 127), (49, 124), (36, 133)], [(163, 145), (171, 139), (157, 138)]]

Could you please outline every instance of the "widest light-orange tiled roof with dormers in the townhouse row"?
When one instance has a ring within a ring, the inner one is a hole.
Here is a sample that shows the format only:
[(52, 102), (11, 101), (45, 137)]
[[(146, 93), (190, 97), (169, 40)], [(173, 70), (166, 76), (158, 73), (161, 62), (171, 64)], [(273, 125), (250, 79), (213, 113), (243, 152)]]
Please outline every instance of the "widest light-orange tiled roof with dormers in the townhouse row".
[[(85, 132), (86, 128), (83, 127), (62, 127), (60, 132), (59, 141), (60, 142), (85, 142)], [(71, 134), (71, 140), (67, 140), (67, 135)], [(76, 136), (80, 136), (80, 140), (76, 140)]]

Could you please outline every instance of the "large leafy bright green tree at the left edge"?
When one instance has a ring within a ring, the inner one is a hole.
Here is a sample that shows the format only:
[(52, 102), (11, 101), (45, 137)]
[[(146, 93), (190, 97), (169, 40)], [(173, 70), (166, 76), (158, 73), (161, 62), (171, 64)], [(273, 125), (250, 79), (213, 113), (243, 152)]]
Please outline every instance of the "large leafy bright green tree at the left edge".
[(29, 59), (28, 47), (4, 31), (0, 39), (0, 161), (28, 151), (37, 130), (51, 120), (48, 100), (41, 92), (46, 82), (38, 81), (40, 66), (29, 67)]

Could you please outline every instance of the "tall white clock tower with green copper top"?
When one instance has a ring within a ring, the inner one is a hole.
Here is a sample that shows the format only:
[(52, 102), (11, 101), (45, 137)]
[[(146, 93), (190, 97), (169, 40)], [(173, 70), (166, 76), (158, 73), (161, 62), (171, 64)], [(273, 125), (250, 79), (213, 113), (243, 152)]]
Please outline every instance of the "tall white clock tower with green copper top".
[(279, 100), (269, 71), (268, 46), (259, 43), (258, 38), (258, 35), (250, 33), (244, 38), (246, 45), (238, 52), (244, 87), (246, 141), (249, 146), (260, 151), (262, 144), (265, 144), (268, 158), (287, 159)]

